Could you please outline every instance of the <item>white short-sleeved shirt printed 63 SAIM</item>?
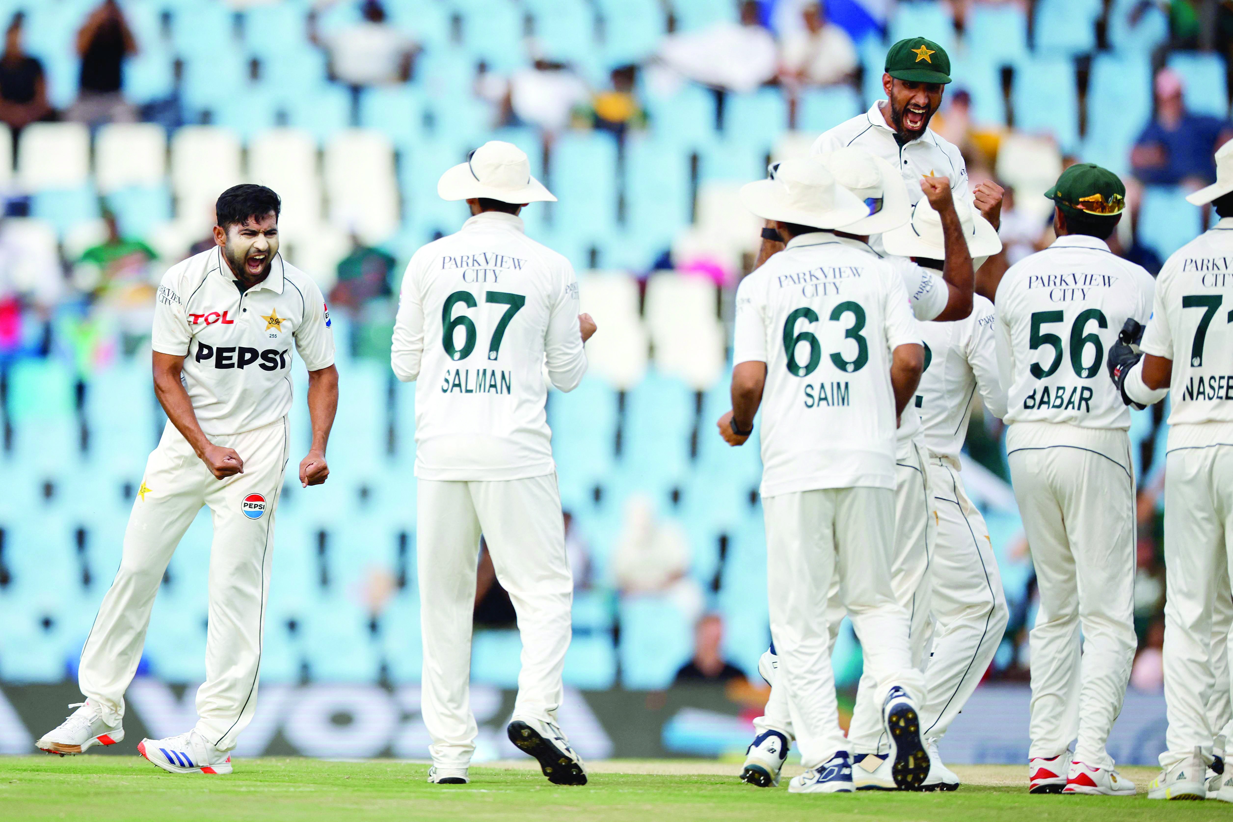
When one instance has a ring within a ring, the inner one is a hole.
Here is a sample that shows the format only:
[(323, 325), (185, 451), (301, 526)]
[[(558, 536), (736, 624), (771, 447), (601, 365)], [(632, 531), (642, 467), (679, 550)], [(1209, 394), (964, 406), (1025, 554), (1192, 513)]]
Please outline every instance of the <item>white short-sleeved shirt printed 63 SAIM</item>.
[(910, 343), (903, 280), (864, 243), (801, 234), (745, 277), (734, 362), (767, 364), (762, 495), (895, 487), (890, 351)]

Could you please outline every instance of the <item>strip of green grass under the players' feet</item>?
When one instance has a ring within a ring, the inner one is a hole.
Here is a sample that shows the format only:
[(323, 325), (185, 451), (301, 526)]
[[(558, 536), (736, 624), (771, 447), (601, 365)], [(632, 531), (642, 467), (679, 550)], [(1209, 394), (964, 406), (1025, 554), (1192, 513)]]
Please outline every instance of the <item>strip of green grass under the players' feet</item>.
[(752, 787), (739, 770), (605, 762), (589, 785), (557, 787), (523, 763), (473, 767), (470, 785), (429, 785), (425, 764), (393, 760), (243, 759), (215, 778), (164, 774), (137, 757), (0, 757), (0, 820), (1233, 820), (1233, 805), (1215, 800), (1148, 801), (1149, 768), (1126, 769), (1133, 799), (1028, 796), (1021, 767), (956, 768), (967, 784), (953, 794), (834, 796)]

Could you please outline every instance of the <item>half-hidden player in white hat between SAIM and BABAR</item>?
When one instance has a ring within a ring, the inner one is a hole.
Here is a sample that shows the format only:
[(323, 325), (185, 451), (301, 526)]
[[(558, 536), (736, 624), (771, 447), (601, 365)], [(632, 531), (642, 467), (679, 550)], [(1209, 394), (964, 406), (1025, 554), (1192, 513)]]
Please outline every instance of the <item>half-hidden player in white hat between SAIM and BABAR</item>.
[[(968, 251), (981, 260), (1001, 250), (1001, 240), (983, 217), (964, 210)], [(906, 226), (883, 235), (887, 251), (938, 266), (944, 255), (941, 219), (925, 200)], [(975, 264), (979, 267), (979, 262)], [(994, 352), (994, 307), (975, 296), (972, 313), (953, 323), (921, 323), (925, 372), (916, 409), (927, 447), (928, 484), (937, 534), (930, 577), (933, 583), (932, 652), (925, 669), (927, 696), (921, 706), (930, 753), (924, 790), (954, 790), (956, 776), (937, 743), (980, 683), (1006, 629), (1009, 612), (1001, 576), (984, 518), (963, 489), (959, 451), (968, 433), (977, 392), (995, 417), (1006, 415), (1006, 392)]]

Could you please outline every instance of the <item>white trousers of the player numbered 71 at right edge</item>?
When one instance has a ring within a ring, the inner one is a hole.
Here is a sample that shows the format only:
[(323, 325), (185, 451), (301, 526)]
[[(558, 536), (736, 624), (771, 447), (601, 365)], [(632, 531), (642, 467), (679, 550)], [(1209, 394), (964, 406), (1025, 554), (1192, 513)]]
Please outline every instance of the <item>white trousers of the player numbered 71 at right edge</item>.
[[(1191, 755), (1195, 748), (1211, 760), (1215, 737), (1224, 731), (1213, 722), (1227, 720), (1228, 712), (1228, 661), (1227, 651), (1222, 654), (1218, 648), (1218, 633), (1221, 622), (1224, 630), (1228, 627), (1231, 542), (1233, 446), (1169, 451), (1164, 474), (1164, 698), (1169, 749), (1160, 754), (1163, 768)], [(1224, 601), (1217, 604), (1217, 598)], [(1226, 691), (1222, 698), (1213, 699), (1216, 689)]]

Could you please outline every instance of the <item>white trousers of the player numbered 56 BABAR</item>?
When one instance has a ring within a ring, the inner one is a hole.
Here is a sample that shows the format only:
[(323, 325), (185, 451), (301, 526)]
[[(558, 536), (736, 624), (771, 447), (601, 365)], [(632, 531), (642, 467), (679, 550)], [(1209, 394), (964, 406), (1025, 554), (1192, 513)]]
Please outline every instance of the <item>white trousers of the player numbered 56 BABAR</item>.
[[(1028, 755), (1055, 757), (1078, 738), (1076, 760), (1112, 768), (1105, 743), (1137, 645), (1129, 437), (1115, 429), (1012, 423), (1006, 451), (1041, 593), (1031, 633)], [(1210, 636), (1203, 640), (1206, 661)]]

